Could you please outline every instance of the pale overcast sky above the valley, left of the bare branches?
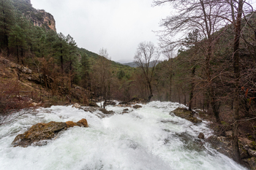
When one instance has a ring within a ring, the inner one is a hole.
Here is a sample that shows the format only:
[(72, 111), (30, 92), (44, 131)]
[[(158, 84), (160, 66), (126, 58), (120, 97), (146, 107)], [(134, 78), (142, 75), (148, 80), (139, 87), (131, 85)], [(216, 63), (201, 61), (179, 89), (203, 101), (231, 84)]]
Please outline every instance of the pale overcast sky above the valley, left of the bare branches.
[(170, 7), (151, 7), (153, 0), (31, 0), (36, 9), (45, 9), (56, 20), (57, 32), (70, 34), (94, 53), (104, 47), (111, 60), (133, 61), (140, 42), (158, 38), (159, 21), (170, 14)]

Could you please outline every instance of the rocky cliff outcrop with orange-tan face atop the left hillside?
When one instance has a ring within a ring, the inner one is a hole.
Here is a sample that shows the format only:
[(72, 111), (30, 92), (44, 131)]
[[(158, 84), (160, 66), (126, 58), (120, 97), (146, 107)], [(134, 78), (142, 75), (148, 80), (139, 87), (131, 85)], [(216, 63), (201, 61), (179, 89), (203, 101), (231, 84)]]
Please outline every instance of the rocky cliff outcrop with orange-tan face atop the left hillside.
[(56, 22), (53, 15), (45, 12), (44, 9), (34, 9), (30, 0), (13, 0), (13, 5), (22, 12), (26, 18), (31, 20), (34, 26), (56, 31)]

